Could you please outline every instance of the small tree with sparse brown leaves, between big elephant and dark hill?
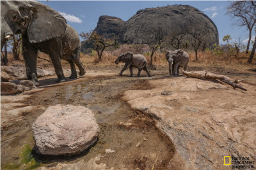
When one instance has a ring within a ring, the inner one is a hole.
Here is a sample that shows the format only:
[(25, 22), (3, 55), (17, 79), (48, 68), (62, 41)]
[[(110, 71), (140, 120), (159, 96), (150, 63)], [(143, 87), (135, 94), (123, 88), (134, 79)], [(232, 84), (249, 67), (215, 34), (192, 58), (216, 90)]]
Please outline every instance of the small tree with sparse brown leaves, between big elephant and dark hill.
[(102, 53), (104, 52), (104, 50), (106, 50), (107, 47), (117, 45), (116, 38), (114, 39), (104, 38), (104, 36), (98, 34), (95, 31), (81, 32), (81, 34), (79, 35), (84, 40), (88, 39), (88, 41), (92, 42), (93, 48), (97, 51), (99, 60), (102, 60)]

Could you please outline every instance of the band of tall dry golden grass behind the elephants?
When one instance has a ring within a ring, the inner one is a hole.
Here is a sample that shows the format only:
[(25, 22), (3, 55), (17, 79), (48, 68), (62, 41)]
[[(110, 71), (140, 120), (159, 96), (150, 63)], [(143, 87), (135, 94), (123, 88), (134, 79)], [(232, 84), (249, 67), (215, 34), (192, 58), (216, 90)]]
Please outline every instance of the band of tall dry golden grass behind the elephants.
[[(105, 51), (102, 55), (102, 60), (99, 61), (97, 53), (92, 52), (90, 54), (84, 54), (81, 53), (81, 62), (84, 64), (84, 66), (90, 66), (93, 67), (95, 65), (97, 66), (110, 66), (112, 64), (115, 64), (115, 59), (120, 55), (120, 53), (125, 52), (133, 52), (133, 53), (141, 53), (143, 54), (148, 62), (150, 62), (150, 48), (147, 45), (141, 45), (141, 46), (135, 46), (135, 45), (122, 45), (120, 48), (111, 50), (111, 51)], [(214, 55), (212, 52), (198, 52), (198, 60), (195, 60), (195, 52), (188, 52), (189, 54), (189, 65), (208, 65), (208, 66), (235, 66), (237, 64), (239, 65), (251, 65), (247, 63), (248, 55), (245, 53), (240, 53), (239, 59), (236, 59), (234, 56), (228, 56), (228, 55)], [(49, 55), (45, 53), (39, 53), (38, 57), (42, 59), (37, 60), (37, 66), (38, 67), (53, 67), (51, 62), (48, 62), (47, 60), (51, 60)], [(254, 66), (256, 64), (256, 56), (253, 59), (252, 65)], [(44, 60), (46, 59), (46, 60)], [(166, 59), (165, 59), (165, 52), (160, 52), (159, 50), (154, 54), (154, 65), (159, 66), (166, 66)], [(8, 60), (9, 66), (13, 65), (21, 65), (24, 64), (23, 57), (20, 55), (20, 60), (14, 60), (12, 53), (8, 53)], [(61, 60), (63, 68), (70, 68), (69, 64), (65, 60)], [(251, 66), (252, 66), (251, 65)]]

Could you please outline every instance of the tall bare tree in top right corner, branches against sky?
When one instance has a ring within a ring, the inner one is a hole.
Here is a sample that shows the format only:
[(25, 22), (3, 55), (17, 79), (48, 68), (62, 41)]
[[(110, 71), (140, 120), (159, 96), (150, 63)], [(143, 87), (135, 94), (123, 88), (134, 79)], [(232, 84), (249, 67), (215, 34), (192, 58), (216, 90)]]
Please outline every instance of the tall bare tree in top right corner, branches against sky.
[(236, 25), (241, 27), (246, 26), (249, 31), (249, 40), (246, 47), (246, 54), (250, 48), (252, 39), (252, 30), (256, 24), (255, 2), (253, 1), (230, 1), (227, 8), (227, 14), (237, 18)]

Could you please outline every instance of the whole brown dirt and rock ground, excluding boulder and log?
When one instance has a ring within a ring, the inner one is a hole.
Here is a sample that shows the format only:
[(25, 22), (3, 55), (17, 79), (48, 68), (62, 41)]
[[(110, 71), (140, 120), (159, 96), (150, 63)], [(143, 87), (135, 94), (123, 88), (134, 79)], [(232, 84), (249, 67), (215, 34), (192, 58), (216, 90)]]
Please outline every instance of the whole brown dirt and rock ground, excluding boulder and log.
[[(121, 67), (90, 64), (76, 80), (40, 78), (38, 89), (1, 96), (1, 169), (230, 169), (224, 155), (256, 159), (255, 65), (189, 66), (244, 79), (246, 92), (219, 81), (166, 77), (167, 66), (157, 66), (151, 78), (143, 71), (131, 78), (128, 70), (119, 76)], [(97, 143), (76, 157), (31, 152), (31, 126), (54, 104), (93, 110)]]

